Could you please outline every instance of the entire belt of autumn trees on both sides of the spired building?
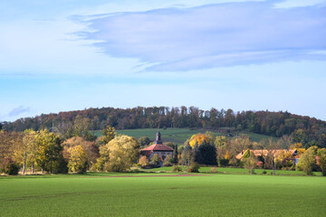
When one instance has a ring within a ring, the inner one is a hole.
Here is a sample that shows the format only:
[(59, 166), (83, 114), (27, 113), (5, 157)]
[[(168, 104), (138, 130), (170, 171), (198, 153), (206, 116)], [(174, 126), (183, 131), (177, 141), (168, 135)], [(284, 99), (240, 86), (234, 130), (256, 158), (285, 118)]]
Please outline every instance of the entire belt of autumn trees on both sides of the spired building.
[[(140, 157), (139, 148), (145, 137), (117, 136), (114, 127), (105, 127), (103, 137), (89, 141), (87, 137), (62, 138), (62, 135), (47, 129), (22, 132), (0, 131), (0, 172), (15, 174), (22, 168), (22, 173), (34, 170), (49, 173), (83, 173), (87, 170), (122, 172), (132, 165), (158, 165), (160, 158)], [(150, 145), (150, 144), (147, 144)], [(251, 171), (255, 167), (295, 169), (292, 152), (280, 151), (279, 148), (296, 150), (301, 156), (297, 168), (308, 175), (313, 170), (321, 170), (326, 175), (326, 149), (317, 146), (307, 151), (302, 144), (295, 143), (291, 137), (282, 137), (252, 142), (249, 137), (215, 137), (212, 132), (197, 134), (185, 142), (184, 146), (174, 146), (174, 157), (164, 160), (165, 165), (184, 165), (190, 171), (196, 171), (198, 165), (235, 165), (245, 166)], [(254, 156), (252, 150), (261, 150), (260, 156)], [(265, 150), (268, 152), (265, 153)], [(242, 159), (237, 156), (244, 152)], [(276, 155), (277, 154), (277, 155)], [(316, 161), (317, 159), (317, 161)], [(318, 162), (318, 165), (316, 164)], [(318, 167), (319, 166), (319, 167)]]

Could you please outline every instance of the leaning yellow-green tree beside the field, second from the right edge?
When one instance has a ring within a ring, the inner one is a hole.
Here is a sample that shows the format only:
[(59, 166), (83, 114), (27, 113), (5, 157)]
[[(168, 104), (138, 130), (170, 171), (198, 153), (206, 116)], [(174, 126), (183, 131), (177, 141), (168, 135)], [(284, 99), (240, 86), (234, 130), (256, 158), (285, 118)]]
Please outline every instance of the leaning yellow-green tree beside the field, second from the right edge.
[(299, 159), (297, 167), (306, 175), (312, 175), (313, 167), (316, 165), (317, 150), (317, 146), (311, 146)]

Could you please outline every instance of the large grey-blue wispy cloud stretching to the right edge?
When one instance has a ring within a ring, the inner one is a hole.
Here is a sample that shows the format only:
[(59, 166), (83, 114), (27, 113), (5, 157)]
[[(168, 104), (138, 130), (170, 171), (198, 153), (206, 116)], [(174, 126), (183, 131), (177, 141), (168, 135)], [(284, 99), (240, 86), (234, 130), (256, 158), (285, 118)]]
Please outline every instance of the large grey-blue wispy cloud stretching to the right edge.
[[(273, 1), (167, 8), (89, 19), (79, 33), (112, 57), (147, 71), (189, 71), (277, 61), (325, 61), (326, 7)], [(102, 15), (102, 14), (101, 14)]]

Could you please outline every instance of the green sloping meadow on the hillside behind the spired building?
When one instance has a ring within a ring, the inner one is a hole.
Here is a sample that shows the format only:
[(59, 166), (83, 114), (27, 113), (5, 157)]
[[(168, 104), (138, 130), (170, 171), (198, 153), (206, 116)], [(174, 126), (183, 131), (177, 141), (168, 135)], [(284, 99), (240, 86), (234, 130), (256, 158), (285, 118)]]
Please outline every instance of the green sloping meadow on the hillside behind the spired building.
[[(155, 140), (155, 135), (157, 133), (157, 128), (139, 128), (139, 129), (124, 129), (117, 130), (118, 134), (128, 135), (129, 137), (149, 137), (152, 141)], [(206, 129), (189, 129), (189, 128), (167, 128), (160, 129), (159, 132), (162, 135), (164, 142), (173, 142), (177, 145), (182, 145), (187, 140), (187, 138), (193, 136), (197, 133), (205, 133)], [(101, 137), (101, 130), (91, 131), (91, 133), (97, 137)], [(215, 136), (221, 136), (223, 134), (219, 132), (214, 132)], [(268, 136), (254, 133), (240, 133), (247, 135), (252, 141), (259, 142), (262, 139), (268, 139)], [(226, 135), (225, 135), (226, 136)], [(275, 139), (275, 137), (272, 137)]]

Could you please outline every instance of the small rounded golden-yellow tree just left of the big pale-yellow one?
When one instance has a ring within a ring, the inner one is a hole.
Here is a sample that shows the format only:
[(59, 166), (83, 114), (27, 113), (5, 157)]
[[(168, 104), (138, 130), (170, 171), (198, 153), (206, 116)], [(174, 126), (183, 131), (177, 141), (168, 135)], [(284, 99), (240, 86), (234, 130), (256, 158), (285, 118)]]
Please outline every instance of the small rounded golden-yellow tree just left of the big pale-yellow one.
[(68, 155), (68, 167), (72, 173), (86, 172), (87, 156), (82, 146), (69, 147)]

